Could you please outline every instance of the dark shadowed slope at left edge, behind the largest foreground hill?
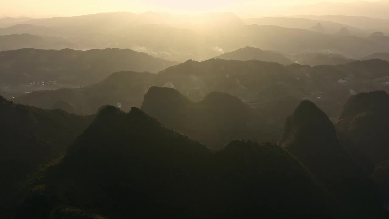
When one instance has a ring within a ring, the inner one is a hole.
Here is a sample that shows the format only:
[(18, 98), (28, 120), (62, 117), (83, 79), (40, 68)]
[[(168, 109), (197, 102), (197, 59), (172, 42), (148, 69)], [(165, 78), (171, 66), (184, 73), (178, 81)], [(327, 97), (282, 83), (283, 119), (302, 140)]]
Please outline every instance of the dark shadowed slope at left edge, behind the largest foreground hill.
[[(92, 116), (15, 104), (0, 96), (0, 209), (26, 175), (40, 164), (64, 155), (67, 146), (91, 123)], [(8, 209), (9, 210), (9, 209)]]

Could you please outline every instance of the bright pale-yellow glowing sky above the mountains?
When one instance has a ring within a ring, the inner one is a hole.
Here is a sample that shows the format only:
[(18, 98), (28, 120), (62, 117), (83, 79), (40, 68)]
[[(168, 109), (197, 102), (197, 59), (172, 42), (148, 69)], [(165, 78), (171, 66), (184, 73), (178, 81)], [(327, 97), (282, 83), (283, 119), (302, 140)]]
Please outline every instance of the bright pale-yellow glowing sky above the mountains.
[[(353, 2), (355, 0), (325, 1)], [(172, 13), (232, 11), (242, 13), (245, 9), (264, 9), (264, 7), (318, 2), (323, 2), (323, 0), (0, 0), (0, 16), (78, 16), (115, 11)]]

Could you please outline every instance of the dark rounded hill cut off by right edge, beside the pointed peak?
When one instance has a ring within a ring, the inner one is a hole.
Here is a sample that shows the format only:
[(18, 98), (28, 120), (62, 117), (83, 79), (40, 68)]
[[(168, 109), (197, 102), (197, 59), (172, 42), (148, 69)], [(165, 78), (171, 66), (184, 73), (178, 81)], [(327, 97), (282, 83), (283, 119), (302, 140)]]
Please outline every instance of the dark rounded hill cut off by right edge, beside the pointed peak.
[(356, 157), (366, 156), (368, 168), (389, 159), (389, 95), (374, 91), (352, 96), (336, 123), (340, 136), (350, 141)]

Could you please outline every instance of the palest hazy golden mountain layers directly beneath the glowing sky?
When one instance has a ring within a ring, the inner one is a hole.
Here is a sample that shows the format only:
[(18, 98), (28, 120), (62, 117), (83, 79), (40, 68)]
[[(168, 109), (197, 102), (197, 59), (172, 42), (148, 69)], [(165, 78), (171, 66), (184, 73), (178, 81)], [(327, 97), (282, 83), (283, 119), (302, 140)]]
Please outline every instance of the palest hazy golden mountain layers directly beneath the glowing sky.
[[(177, 61), (206, 60), (245, 46), (283, 53), (340, 53), (354, 59), (389, 52), (389, 40), (370, 37), (374, 32), (388, 34), (385, 25), (361, 28), (326, 19), (331, 18), (241, 19), (233, 13), (179, 16), (154, 12), (31, 19), (1, 28), (0, 35), (8, 40), (3, 45), (0, 41), (0, 49), (130, 48)], [(318, 23), (324, 32), (307, 30)], [(336, 35), (342, 28), (349, 34)]]

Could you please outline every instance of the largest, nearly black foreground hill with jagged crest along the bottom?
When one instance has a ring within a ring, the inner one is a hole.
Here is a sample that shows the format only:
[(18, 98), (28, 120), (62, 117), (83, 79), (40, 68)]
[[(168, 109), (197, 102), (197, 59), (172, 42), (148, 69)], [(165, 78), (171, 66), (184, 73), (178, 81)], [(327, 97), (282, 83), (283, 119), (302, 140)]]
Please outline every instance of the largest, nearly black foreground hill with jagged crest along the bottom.
[(19, 208), (20, 218), (62, 218), (55, 216), (81, 210), (109, 218), (340, 214), (312, 175), (279, 146), (236, 140), (211, 152), (138, 108), (102, 109), (36, 185)]

